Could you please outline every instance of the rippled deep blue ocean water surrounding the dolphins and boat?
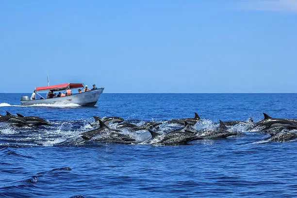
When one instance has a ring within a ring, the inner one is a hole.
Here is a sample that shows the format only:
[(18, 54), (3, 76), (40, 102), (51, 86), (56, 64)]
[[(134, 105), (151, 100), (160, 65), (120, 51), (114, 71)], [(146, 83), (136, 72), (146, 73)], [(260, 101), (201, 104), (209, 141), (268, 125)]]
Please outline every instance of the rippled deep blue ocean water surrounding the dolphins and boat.
[[(56, 147), (89, 130), (92, 116), (144, 121), (194, 117), (221, 120), (297, 119), (297, 94), (102, 94), (96, 107), (21, 107), (26, 94), (0, 94), (0, 114), (44, 117), (53, 126), (0, 127), (3, 197), (283, 197), (297, 196), (297, 142), (262, 144), (266, 134), (188, 145), (98, 144)], [(27, 94), (30, 95), (30, 94)], [(148, 132), (136, 134), (149, 138)], [(38, 143), (38, 144), (37, 144)]]

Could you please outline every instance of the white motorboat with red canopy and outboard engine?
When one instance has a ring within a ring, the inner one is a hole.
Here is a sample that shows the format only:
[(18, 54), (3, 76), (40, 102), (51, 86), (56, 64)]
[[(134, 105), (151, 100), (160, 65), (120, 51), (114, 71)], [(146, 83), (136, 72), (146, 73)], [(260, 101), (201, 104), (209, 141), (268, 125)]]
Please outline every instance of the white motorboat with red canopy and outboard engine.
[[(97, 88), (94, 90), (72, 94), (70, 96), (58, 97), (58, 98), (49, 98), (44, 99), (43, 96), (39, 95), (38, 92), (41, 91), (65, 91), (67, 89), (77, 89), (83, 88), (84, 85), (82, 83), (66, 83), (66, 84), (58, 84), (58, 85), (51, 85), (45, 87), (37, 87), (35, 88), (35, 93), (40, 97), (40, 99), (30, 99), (28, 96), (21, 97), (21, 105), (22, 106), (31, 106), (34, 104), (79, 104), (81, 106), (94, 106), (101, 93), (104, 90), (104, 87)], [(36, 97), (37, 98), (37, 97)]]

